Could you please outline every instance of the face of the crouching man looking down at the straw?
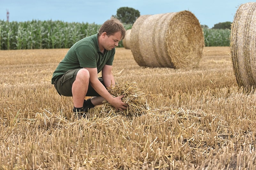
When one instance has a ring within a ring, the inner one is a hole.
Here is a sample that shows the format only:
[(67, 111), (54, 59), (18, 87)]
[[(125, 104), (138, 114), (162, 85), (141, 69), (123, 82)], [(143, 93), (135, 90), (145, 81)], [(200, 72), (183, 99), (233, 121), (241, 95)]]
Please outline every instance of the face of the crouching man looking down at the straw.
[(106, 50), (111, 50), (118, 46), (118, 42), (122, 40), (122, 34), (121, 32), (116, 32), (113, 35), (106, 35), (104, 38), (104, 48)]

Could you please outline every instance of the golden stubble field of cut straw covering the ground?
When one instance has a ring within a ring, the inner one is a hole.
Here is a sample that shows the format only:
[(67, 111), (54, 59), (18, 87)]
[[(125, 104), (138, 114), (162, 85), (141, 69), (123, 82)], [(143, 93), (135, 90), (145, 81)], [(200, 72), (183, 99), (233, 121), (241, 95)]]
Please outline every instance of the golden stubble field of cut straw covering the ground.
[(205, 47), (189, 70), (140, 67), (116, 48), (113, 95), (132, 109), (106, 103), (80, 120), (50, 83), (67, 50), (0, 51), (0, 169), (256, 168), (256, 94), (236, 84), (229, 47)]

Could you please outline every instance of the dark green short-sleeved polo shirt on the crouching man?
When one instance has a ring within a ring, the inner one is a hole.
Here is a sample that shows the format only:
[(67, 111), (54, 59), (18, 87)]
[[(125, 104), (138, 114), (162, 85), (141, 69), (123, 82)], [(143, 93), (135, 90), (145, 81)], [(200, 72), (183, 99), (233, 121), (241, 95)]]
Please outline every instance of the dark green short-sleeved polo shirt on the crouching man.
[(115, 52), (115, 48), (109, 51), (105, 49), (103, 54), (100, 52), (98, 33), (77, 41), (53, 72), (52, 84), (68, 70), (88, 67), (97, 68), (99, 73), (104, 65), (113, 64)]

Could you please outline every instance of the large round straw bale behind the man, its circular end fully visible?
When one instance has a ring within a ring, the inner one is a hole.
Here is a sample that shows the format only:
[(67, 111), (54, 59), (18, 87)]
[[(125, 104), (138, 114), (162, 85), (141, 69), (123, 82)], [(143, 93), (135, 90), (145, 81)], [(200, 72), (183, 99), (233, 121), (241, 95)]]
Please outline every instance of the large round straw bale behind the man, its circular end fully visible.
[(202, 58), (204, 34), (190, 11), (141, 15), (132, 26), (130, 44), (140, 66), (189, 68)]

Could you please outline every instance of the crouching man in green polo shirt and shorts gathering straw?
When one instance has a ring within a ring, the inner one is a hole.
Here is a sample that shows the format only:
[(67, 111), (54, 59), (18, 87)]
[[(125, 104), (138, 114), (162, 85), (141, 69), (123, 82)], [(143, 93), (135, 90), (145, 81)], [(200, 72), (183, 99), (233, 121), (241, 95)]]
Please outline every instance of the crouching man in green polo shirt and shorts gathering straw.
[[(107, 100), (116, 110), (127, 109), (123, 95), (113, 97), (107, 87), (115, 85), (112, 64), (115, 47), (125, 37), (123, 24), (114, 17), (103, 23), (97, 34), (77, 41), (52, 75), (52, 84), (60, 95), (72, 96), (77, 117)], [(101, 71), (101, 78), (98, 73)], [(85, 100), (85, 96), (92, 98)]]

